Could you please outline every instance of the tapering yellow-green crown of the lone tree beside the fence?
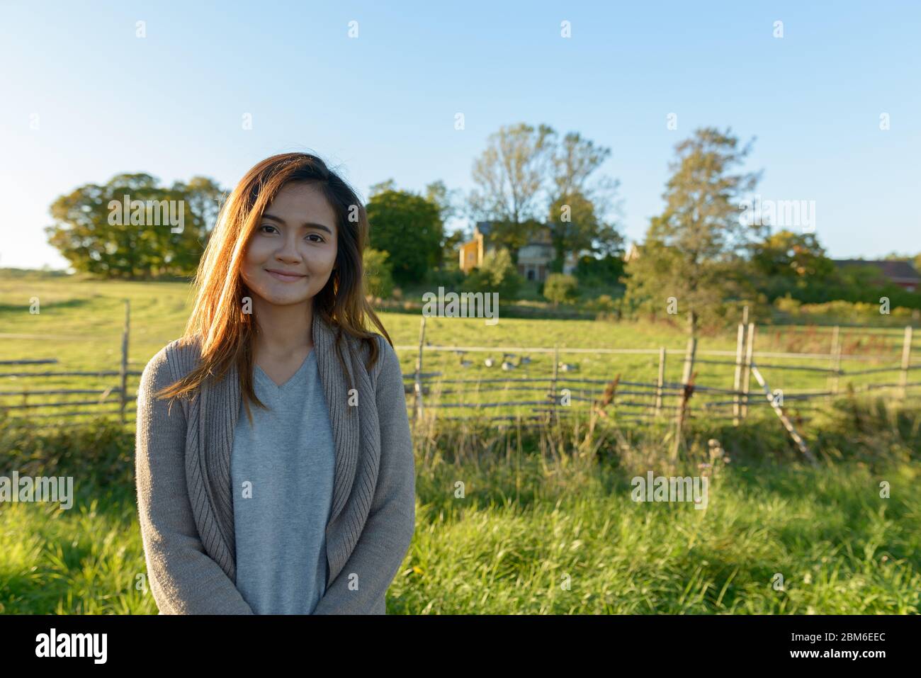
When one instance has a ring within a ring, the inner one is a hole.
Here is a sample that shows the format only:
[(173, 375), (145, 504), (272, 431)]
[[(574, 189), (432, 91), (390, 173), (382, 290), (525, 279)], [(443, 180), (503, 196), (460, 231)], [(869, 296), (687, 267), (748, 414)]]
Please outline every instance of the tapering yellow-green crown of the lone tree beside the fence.
[(627, 265), (631, 303), (686, 312), (691, 336), (703, 313), (718, 314), (739, 292), (743, 254), (765, 230), (740, 219), (741, 196), (754, 189), (760, 172), (732, 173), (753, 139), (739, 148), (730, 132), (697, 129), (675, 146), (665, 210), (651, 219), (639, 257)]

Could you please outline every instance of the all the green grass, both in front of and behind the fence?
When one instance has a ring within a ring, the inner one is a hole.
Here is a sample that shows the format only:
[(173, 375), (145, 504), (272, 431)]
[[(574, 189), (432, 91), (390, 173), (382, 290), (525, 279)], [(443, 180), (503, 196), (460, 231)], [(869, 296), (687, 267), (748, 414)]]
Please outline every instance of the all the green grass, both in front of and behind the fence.
[[(39, 298), (41, 313), (29, 313), (31, 298)], [(132, 368), (140, 370), (180, 336), (192, 301), (188, 286), (0, 279), (0, 359), (55, 357), (55, 370), (117, 369), (123, 298), (131, 299), (130, 355)], [(417, 343), (417, 315), (381, 318), (394, 344)], [(559, 344), (561, 359), (578, 363), (576, 376), (612, 379), (620, 373), (622, 380), (637, 381), (655, 379), (658, 357), (567, 356), (565, 348), (682, 350), (685, 343), (680, 330), (663, 324), (513, 320), (503, 319), (501, 310), (492, 326), (482, 319), (429, 318), (426, 337), (433, 345)], [(764, 327), (756, 348), (824, 352), (828, 337), (810, 328)], [(860, 336), (849, 330), (845, 351), (897, 362), (901, 337), (898, 330)], [(735, 335), (705, 336), (699, 348), (734, 350)], [(409, 374), (415, 352), (400, 353)], [(464, 369), (453, 353), (426, 353), (424, 369), (453, 378), (508, 376), (485, 368), (486, 355), (468, 354), (474, 365)], [(511, 376), (549, 378), (550, 357), (531, 358)], [(667, 379), (678, 380), (681, 357), (670, 356), (667, 365)], [(845, 362), (845, 368), (874, 365)], [(764, 372), (772, 388), (791, 392), (827, 383), (825, 375), (810, 372)], [(894, 372), (885, 375), (896, 380)], [(869, 380), (880, 377), (854, 379)], [(5, 378), (2, 390), (102, 388), (115, 381)], [(732, 368), (701, 364), (697, 382), (729, 388)], [(846, 382), (842, 378), (842, 386)], [(137, 378), (129, 383), (133, 392)], [(803, 429), (820, 454), (815, 468), (801, 461), (764, 408), (753, 409), (741, 427), (705, 417), (692, 421), (678, 466), (666, 455), (668, 421), (619, 428), (604, 420), (589, 434), (581, 417), (547, 430), (426, 420), (415, 431), (414, 543), (391, 585), (389, 612), (916, 614), (921, 408), (913, 393), (905, 402), (844, 397), (815, 413)], [(500, 395), (461, 397), (472, 402)], [(706, 456), (707, 438), (720, 440), (729, 462)], [(700, 465), (707, 462), (713, 465)], [(77, 494), (68, 510), (0, 504), (0, 612), (156, 613), (143, 585), (133, 464), (130, 424), (39, 429), (0, 418), (0, 474), (71, 474)], [(707, 508), (632, 501), (630, 480), (646, 470), (708, 474)], [(464, 497), (457, 496), (459, 482)], [(881, 482), (890, 485), (890, 497), (880, 497)]]

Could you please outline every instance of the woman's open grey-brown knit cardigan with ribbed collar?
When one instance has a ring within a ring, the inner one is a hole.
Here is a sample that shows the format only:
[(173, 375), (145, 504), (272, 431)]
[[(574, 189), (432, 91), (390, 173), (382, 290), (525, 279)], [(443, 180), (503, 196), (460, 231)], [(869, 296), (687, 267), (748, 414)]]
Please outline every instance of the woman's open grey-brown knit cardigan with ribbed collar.
[[(326, 525), (330, 573), (314, 614), (386, 614), (385, 593), (415, 527), (414, 453), (400, 361), (377, 334), (380, 353), (368, 371), (367, 346), (342, 333), (356, 389), (350, 393), (336, 332), (319, 313), (312, 333), (335, 442)], [(253, 614), (235, 585), (230, 453), (238, 369), (217, 383), (206, 380), (192, 399), (153, 396), (197, 360), (197, 342), (177, 339), (151, 358), (138, 387), (135, 476), (150, 590), (159, 614)]]

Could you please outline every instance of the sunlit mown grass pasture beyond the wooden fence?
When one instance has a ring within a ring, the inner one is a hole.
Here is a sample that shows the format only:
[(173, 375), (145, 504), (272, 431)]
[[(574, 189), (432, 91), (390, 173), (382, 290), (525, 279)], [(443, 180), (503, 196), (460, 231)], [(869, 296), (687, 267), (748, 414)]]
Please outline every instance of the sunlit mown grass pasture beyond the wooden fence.
[[(29, 313), (32, 298), (40, 302), (41, 312)], [(182, 283), (119, 283), (119, 282), (72, 282), (54, 278), (33, 279), (0, 278), (0, 318), (3, 320), (3, 350), (0, 359), (56, 358), (59, 363), (48, 367), (54, 371), (73, 370), (117, 370), (121, 359), (121, 334), (124, 323), (124, 299), (131, 303), (131, 332), (129, 344), (129, 368), (140, 371), (147, 360), (160, 348), (178, 338), (185, 326), (192, 304), (190, 286)], [(420, 316), (408, 313), (380, 313), (381, 321), (395, 345), (410, 346), (399, 351), (404, 375), (414, 373), (418, 344)], [(903, 333), (899, 329), (843, 328), (845, 369), (865, 369), (882, 366), (896, 366), (901, 357)], [(495, 325), (485, 324), (484, 319), (428, 318), (426, 320), (426, 341), (432, 345), (478, 345), (478, 346), (533, 346), (560, 347), (560, 359), (577, 365), (576, 372), (561, 373), (559, 376), (575, 379), (612, 380), (620, 374), (624, 381), (655, 381), (659, 370), (658, 355), (602, 355), (567, 354), (567, 348), (643, 348), (657, 351), (665, 346), (670, 353), (666, 361), (666, 380), (678, 382), (682, 375), (682, 357), (686, 345), (685, 335), (680, 329), (666, 323), (610, 322), (610, 321), (561, 321), (523, 320), (502, 318)], [(759, 327), (755, 340), (756, 351), (827, 353), (831, 334), (828, 328), (799, 326)], [(721, 333), (703, 336), (698, 351), (734, 351), (735, 333)], [(921, 357), (921, 332), (915, 333), (914, 355)], [(468, 353), (465, 359), (472, 361), (469, 368), (461, 368), (460, 357), (451, 351), (426, 352), (423, 369), (426, 372), (441, 372), (442, 379), (495, 380), (495, 379), (541, 379), (535, 383), (519, 384), (530, 391), (502, 391), (495, 384), (475, 383), (452, 386), (433, 384), (433, 403), (498, 403), (508, 401), (544, 400), (553, 373), (553, 354), (522, 352), (530, 355), (531, 362), (512, 371), (502, 371), (498, 364), (501, 352), (495, 352), (495, 367), (484, 367), (488, 353)], [(848, 356), (882, 356), (883, 362), (848, 360)], [(709, 360), (727, 360), (730, 356), (712, 357), (699, 355)], [(801, 360), (791, 358), (768, 358), (768, 366), (812, 366), (830, 367), (824, 359)], [(915, 363), (921, 362), (915, 358)], [(38, 368), (22, 369), (31, 371)], [(734, 368), (731, 365), (716, 365), (698, 362), (696, 383), (729, 389), (733, 384)], [(829, 387), (828, 375), (803, 370), (783, 371), (768, 367), (763, 370), (771, 389), (795, 393), (804, 389), (824, 390)], [(914, 373), (916, 375), (917, 372)], [(913, 376), (914, 376), (913, 375)], [(848, 382), (856, 385), (871, 382), (894, 382), (897, 372), (858, 375), (841, 380), (841, 387)], [(129, 379), (129, 392), (136, 388), (138, 377)], [(916, 380), (916, 379), (915, 379)], [(99, 388), (115, 384), (112, 377), (54, 377), (41, 380), (21, 378), (7, 379), (9, 387), (15, 390), (28, 388)], [(565, 382), (560, 387), (565, 387)], [(489, 388), (489, 391), (484, 391)], [(574, 396), (577, 389), (600, 389), (603, 385), (587, 387), (584, 384), (570, 384)], [(758, 385), (752, 380), (759, 406), (766, 402)], [(11, 388), (11, 390), (14, 390)], [(439, 396), (440, 391), (453, 391)], [(590, 397), (590, 396), (589, 396)], [(85, 396), (84, 396), (85, 398)], [(60, 400), (60, 396), (56, 398)], [(649, 401), (649, 398), (646, 398)], [(30, 396), (29, 403), (42, 402), (38, 396)], [(578, 405), (578, 403), (576, 403)], [(672, 406), (675, 403), (671, 403)], [(799, 414), (806, 415), (808, 407), (801, 405)], [(530, 414), (531, 406), (489, 408), (490, 415)], [(449, 408), (446, 415), (467, 415), (469, 409)]]

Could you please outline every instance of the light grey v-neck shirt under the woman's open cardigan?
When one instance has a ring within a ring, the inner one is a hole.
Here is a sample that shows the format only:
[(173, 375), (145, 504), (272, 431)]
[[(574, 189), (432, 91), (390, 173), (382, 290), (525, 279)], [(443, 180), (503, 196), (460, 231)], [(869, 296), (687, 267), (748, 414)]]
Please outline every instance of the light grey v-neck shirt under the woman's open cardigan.
[(312, 614), (326, 589), (335, 448), (316, 351), (278, 386), (253, 366), (252, 426), (240, 402), (230, 477), (237, 589), (255, 614)]

